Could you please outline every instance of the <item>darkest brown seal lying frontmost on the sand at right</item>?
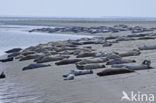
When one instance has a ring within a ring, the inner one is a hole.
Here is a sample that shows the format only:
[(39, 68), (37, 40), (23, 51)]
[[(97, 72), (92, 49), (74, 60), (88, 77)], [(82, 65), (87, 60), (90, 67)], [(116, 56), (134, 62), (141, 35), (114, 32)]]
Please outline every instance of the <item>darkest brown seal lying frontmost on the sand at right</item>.
[(126, 69), (126, 68), (115, 68), (115, 69), (105, 69), (99, 73), (98, 76), (108, 76), (108, 75), (115, 75), (115, 74), (124, 74), (124, 73), (132, 73), (134, 70)]

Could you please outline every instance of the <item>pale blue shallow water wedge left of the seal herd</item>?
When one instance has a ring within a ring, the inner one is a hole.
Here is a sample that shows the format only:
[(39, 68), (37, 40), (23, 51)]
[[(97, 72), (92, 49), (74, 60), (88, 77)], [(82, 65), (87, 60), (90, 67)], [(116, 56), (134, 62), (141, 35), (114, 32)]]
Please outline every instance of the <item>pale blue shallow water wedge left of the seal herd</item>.
[[(0, 26), (0, 55), (4, 51), (15, 47), (26, 48), (37, 44), (47, 43), (50, 41), (61, 41), (68, 39), (79, 39), (91, 37), (84, 35), (72, 34), (49, 34), (49, 33), (29, 33), (27, 30), (37, 28), (33, 26)], [(41, 28), (41, 26), (39, 26)]]

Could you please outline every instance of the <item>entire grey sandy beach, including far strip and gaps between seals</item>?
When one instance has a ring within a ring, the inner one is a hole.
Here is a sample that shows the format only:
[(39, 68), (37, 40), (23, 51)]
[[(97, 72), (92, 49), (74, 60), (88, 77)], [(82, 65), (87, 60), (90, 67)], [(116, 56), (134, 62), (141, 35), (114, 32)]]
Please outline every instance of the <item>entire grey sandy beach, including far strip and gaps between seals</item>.
[[(3, 22), (4, 23), (4, 22)], [(102, 23), (58, 23), (58, 22), (37, 22), (26, 21), (26, 22), (14, 22), (7, 21), (6, 24), (12, 25), (52, 25), (61, 27), (70, 26), (113, 26), (119, 24), (125, 24), (128, 26), (143, 26), (146, 28), (156, 27), (155, 21), (114, 21), (114, 22), (102, 22)], [(31, 24), (32, 23), (32, 24)], [(151, 33), (155, 37), (156, 31), (143, 32), (148, 36)], [(44, 32), (42, 33), (44, 34)], [(56, 33), (57, 34), (57, 33)], [(63, 33), (66, 34), (66, 33)], [(71, 35), (71, 33), (68, 33)], [(85, 35), (85, 33), (75, 33)], [(99, 33), (99, 34), (88, 34), (93, 36), (127, 36), (131, 35), (130, 31), (122, 31), (118, 33)], [(141, 33), (137, 33), (141, 34)], [(51, 33), (50, 35), (53, 35)], [(73, 34), (74, 35), (74, 34)], [(101, 37), (101, 38), (102, 38)], [(92, 40), (92, 37), (90, 37)], [(135, 38), (135, 37), (134, 37)], [(118, 38), (117, 38), (118, 39)], [(85, 39), (86, 41), (88, 39)], [(84, 40), (84, 41), (85, 41)], [(113, 39), (114, 40), (114, 39)], [(79, 40), (80, 42), (83, 39)], [(76, 41), (76, 42), (79, 42)], [(109, 40), (108, 40), (109, 41)], [(111, 41), (111, 40), (110, 40)], [(109, 42), (110, 42), (109, 41)], [(138, 47), (144, 45), (155, 45), (155, 39), (136, 39), (136, 40), (119, 40), (119, 42), (111, 41), (112, 45), (104, 47), (102, 44), (85, 44), (79, 45), (78, 48), (85, 48), (91, 46), (95, 52), (128, 52), (133, 49), (138, 49)], [(66, 43), (67, 41), (65, 41)], [(48, 47), (54, 42), (49, 42), (47, 44), (42, 43), (40, 47)], [(57, 43), (61, 43), (58, 42)], [(64, 42), (60, 45), (64, 45)], [(44, 45), (45, 44), (45, 45)], [(37, 45), (37, 44), (36, 44)], [(54, 45), (57, 45), (54, 43)], [(37, 46), (36, 46), (37, 48)], [(90, 49), (89, 49), (90, 50)], [(70, 51), (70, 50), (69, 50)], [(93, 51), (94, 52), (94, 51)], [(75, 58), (71, 54), (70, 58)], [(1, 57), (6, 58), (7, 55)], [(125, 59), (134, 59), (135, 63), (141, 64), (144, 60), (151, 60), (151, 66), (153, 69), (147, 70), (137, 70), (134, 73), (118, 74), (110, 76), (99, 77), (96, 73), (111, 68), (111, 66), (106, 66), (106, 68), (95, 69), (94, 73), (90, 75), (75, 76), (74, 80), (64, 80), (62, 75), (70, 72), (70, 70), (76, 70), (75, 64), (68, 65), (55, 65), (58, 61), (46, 62), (44, 64), (50, 64), (49, 67), (37, 68), (27, 71), (22, 71), (23, 67), (29, 64), (35, 63), (34, 59), (19, 61), (19, 59), (14, 59), (11, 62), (0, 63), (0, 69), (6, 74), (6, 78), (0, 80), (0, 103), (130, 103), (131, 101), (124, 100), (121, 98), (123, 96), (122, 92), (125, 91), (130, 94), (131, 91), (135, 93), (147, 93), (156, 95), (156, 49), (153, 50), (141, 50), (140, 55), (127, 56)], [(84, 58), (82, 58), (84, 59)], [(94, 59), (94, 57), (89, 57), (87, 59)], [(102, 63), (106, 64), (106, 63)], [(138, 103), (138, 101), (133, 101)], [(149, 102), (149, 101), (148, 101)], [(141, 101), (141, 103), (147, 103), (147, 101)], [(154, 103), (154, 102), (153, 102)]]

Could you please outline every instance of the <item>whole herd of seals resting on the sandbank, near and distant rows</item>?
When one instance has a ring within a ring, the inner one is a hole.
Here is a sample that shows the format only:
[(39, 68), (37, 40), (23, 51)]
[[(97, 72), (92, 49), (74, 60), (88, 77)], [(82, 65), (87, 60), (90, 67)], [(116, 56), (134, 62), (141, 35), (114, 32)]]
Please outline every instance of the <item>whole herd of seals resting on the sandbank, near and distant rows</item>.
[[(143, 27), (128, 27), (126, 25), (115, 25), (114, 27), (73, 27), (68, 30), (73, 31), (85, 31), (90, 32), (104, 32), (105, 30), (111, 32), (118, 32), (128, 30), (131, 32), (144, 32), (153, 29), (145, 29)], [(34, 29), (32, 31), (51, 31), (51, 32), (63, 32), (67, 29), (54, 28), (54, 29)], [(103, 31), (100, 31), (103, 30)], [(104, 69), (97, 75), (112, 75), (121, 73), (130, 73), (133, 70), (148, 69), (150, 67), (150, 61), (145, 60), (140, 65), (129, 65), (125, 63), (135, 63), (135, 60), (124, 59), (129, 56), (139, 56), (141, 50), (154, 50), (156, 46), (140, 46), (138, 49), (129, 50), (126, 52), (107, 52), (98, 51), (94, 49), (94, 45), (100, 45), (102, 48), (109, 48), (114, 46), (115, 43), (121, 41), (132, 41), (132, 40), (145, 40), (145, 39), (156, 39), (156, 34), (144, 33), (144, 34), (132, 34), (127, 36), (107, 36), (107, 37), (93, 37), (93, 38), (81, 38), (77, 40), (66, 40), (59, 42), (49, 42), (47, 44), (39, 44), (37, 46), (31, 46), (24, 50), (21, 48), (14, 48), (6, 51), (8, 57), (1, 59), (1, 62), (10, 62), (15, 59), (20, 62), (26, 60), (33, 60), (35, 63), (29, 64), (24, 67), (23, 70), (31, 70), (41, 67), (49, 67), (49, 62), (54, 62), (55, 65), (68, 65), (75, 64), (76, 70), (70, 72), (66, 76), (66, 80), (74, 79), (76, 75), (92, 74), (94, 69)], [(108, 65), (112, 65), (112, 68), (107, 69)], [(114, 68), (118, 69), (114, 69)]]

